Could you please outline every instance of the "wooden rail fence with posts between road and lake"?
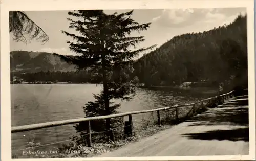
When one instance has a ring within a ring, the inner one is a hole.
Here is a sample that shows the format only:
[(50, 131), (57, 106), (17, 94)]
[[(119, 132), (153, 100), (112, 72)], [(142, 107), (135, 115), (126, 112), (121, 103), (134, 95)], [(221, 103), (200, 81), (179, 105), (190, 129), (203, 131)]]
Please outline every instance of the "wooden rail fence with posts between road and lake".
[[(129, 132), (132, 132), (132, 115), (133, 114), (139, 114), (139, 113), (148, 113), (148, 112), (155, 112), (157, 111), (157, 122), (158, 125), (160, 125), (161, 118), (160, 118), (160, 111), (161, 110), (169, 110), (169, 109), (175, 109), (176, 112), (176, 120), (179, 120), (179, 107), (184, 107), (184, 106), (193, 106), (187, 115), (189, 115), (191, 112), (195, 113), (195, 105), (201, 103), (201, 107), (204, 102), (208, 101), (208, 104), (212, 103), (215, 99), (220, 99), (220, 100), (226, 100), (231, 97), (233, 97), (233, 92), (230, 91), (229, 93), (215, 96), (215, 97), (210, 97), (204, 100), (200, 100), (194, 103), (188, 103), (188, 104), (182, 104), (182, 105), (174, 105), (170, 107), (163, 107), (163, 108), (157, 108), (157, 109), (150, 109), (150, 110), (142, 110), (142, 111), (134, 111), (134, 112), (125, 112), (125, 113), (118, 113), (118, 114), (111, 114), (111, 115), (106, 115), (106, 116), (97, 116), (97, 117), (87, 117), (87, 118), (79, 118), (79, 119), (70, 119), (70, 120), (62, 120), (62, 121), (53, 121), (53, 122), (47, 122), (47, 123), (39, 123), (39, 124), (31, 124), (31, 125), (23, 125), (23, 126), (16, 126), (11, 128), (11, 133), (16, 133), (16, 132), (23, 132), (23, 131), (30, 131), (30, 130), (36, 130), (36, 129), (42, 129), (42, 128), (48, 128), (48, 127), (54, 127), (54, 126), (61, 126), (61, 125), (68, 125), (68, 124), (75, 124), (75, 123), (80, 123), (80, 122), (86, 122), (87, 123), (87, 144), (90, 147), (92, 145), (91, 141), (91, 123), (90, 121), (93, 120), (102, 120), (102, 119), (109, 119), (109, 118), (117, 118), (117, 117), (124, 117), (124, 116), (129, 116), (129, 121), (125, 122), (125, 131), (127, 132), (127, 126), (130, 126), (128, 128)], [(111, 130), (111, 129), (110, 129)]]

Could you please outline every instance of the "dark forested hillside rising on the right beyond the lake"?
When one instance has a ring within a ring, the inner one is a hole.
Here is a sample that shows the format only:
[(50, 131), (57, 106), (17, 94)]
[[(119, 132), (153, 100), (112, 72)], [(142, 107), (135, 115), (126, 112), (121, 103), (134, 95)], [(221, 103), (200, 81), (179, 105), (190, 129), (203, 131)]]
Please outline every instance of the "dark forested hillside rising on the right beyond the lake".
[(176, 36), (134, 67), (140, 82), (148, 86), (201, 80), (247, 84), (246, 16), (210, 31)]

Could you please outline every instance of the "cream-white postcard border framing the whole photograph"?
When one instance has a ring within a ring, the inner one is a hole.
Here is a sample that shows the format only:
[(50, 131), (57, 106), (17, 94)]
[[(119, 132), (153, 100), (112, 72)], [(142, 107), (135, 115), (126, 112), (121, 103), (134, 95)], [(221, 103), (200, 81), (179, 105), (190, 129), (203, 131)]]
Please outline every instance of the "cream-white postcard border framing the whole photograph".
[[(255, 159), (255, 64), (254, 64), (254, 4), (252, 0), (2, 0), (1, 15), (1, 160), (11, 160), (10, 102), (10, 42), (9, 11), (47, 11), (74, 9), (167, 9), (167, 8), (247, 8), (248, 86), (249, 86), (249, 155), (236, 156), (168, 156), (168, 157), (109, 157), (109, 158), (49, 158), (30, 160), (254, 160)], [(19, 159), (27, 160), (27, 159)]]

